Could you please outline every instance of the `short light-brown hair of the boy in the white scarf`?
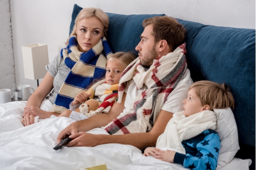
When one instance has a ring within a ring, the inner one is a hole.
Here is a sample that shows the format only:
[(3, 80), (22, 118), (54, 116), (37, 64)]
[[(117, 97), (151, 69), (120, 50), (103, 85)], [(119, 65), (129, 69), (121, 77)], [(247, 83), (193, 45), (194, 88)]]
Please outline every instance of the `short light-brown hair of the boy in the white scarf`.
[(200, 98), (202, 105), (209, 105), (209, 110), (232, 108), (234, 110), (235, 100), (230, 88), (225, 84), (203, 80), (193, 83), (189, 90), (195, 88), (196, 95)]

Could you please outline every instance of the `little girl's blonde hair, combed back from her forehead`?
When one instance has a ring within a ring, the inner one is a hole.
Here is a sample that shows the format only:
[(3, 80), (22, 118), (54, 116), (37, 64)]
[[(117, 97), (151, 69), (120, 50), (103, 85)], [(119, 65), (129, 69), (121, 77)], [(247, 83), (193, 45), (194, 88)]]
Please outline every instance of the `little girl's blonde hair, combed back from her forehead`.
[(126, 68), (134, 59), (136, 59), (136, 56), (131, 52), (117, 52), (115, 54), (112, 54), (111, 57), (108, 58), (106, 62), (106, 67), (108, 61), (117, 60), (117, 63), (119, 65), (122, 65), (124, 68)]

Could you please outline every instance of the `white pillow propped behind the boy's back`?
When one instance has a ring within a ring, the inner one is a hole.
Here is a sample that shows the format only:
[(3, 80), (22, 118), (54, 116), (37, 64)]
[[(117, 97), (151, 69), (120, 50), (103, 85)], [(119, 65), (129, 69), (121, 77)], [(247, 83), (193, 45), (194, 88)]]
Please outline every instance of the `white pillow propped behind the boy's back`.
[(231, 108), (213, 109), (217, 116), (216, 132), (221, 140), (216, 169), (228, 164), (239, 150), (236, 120)]

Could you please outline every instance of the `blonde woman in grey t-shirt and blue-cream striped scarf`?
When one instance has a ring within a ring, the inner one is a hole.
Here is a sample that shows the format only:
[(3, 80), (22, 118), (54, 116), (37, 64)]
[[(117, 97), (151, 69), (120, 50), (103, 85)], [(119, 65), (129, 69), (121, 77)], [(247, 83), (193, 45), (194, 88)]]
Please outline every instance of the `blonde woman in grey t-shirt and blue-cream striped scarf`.
[[(46, 66), (47, 74), (27, 101), (22, 119), (24, 126), (34, 123), (35, 116), (39, 119), (58, 116), (69, 109), (70, 102), (93, 80), (105, 76), (105, 63), (112, 54), (104, 37), (108, 23), (108, 15), (101, 9), (80, 11), (66, 42), (67, 47)], [(50, 111), (40, 109), (44, 99), (53, 104)]]

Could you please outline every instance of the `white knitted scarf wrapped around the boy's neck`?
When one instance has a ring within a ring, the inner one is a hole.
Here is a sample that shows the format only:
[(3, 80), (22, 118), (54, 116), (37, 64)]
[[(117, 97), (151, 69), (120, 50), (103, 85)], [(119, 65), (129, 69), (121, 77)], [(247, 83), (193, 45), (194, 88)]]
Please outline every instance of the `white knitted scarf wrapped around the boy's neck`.
[(198, 136), (205, 130), (216, 130), (217, 117), (214, 111), (202, 111), (186, 117), (182, 112), (173, 114), (164, 133), (157, 139), (157, 148), (170, 148), (185, 154), (181, 142)]

